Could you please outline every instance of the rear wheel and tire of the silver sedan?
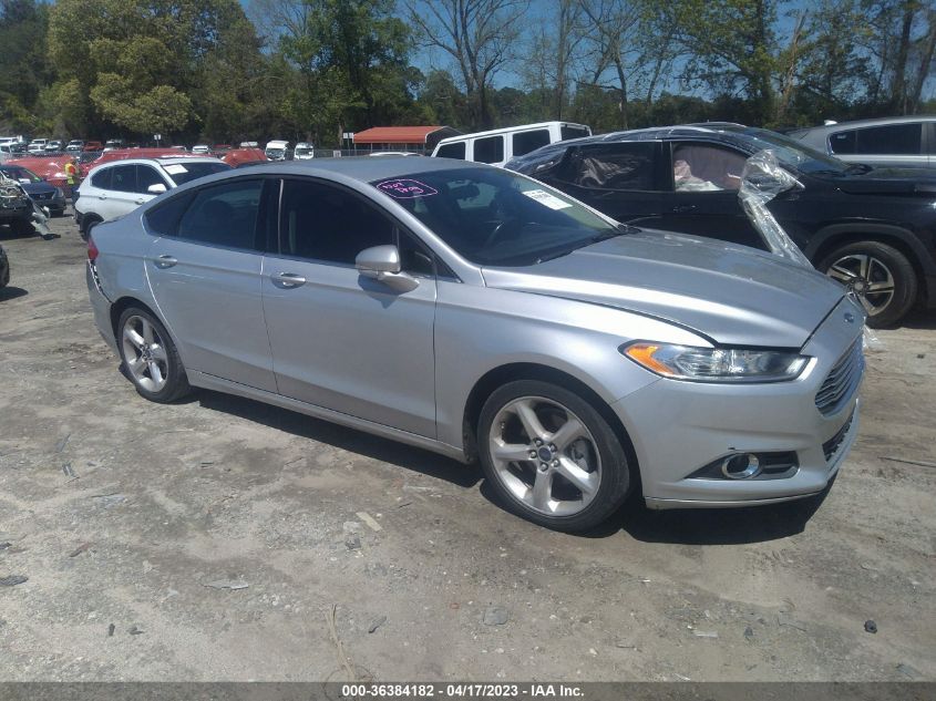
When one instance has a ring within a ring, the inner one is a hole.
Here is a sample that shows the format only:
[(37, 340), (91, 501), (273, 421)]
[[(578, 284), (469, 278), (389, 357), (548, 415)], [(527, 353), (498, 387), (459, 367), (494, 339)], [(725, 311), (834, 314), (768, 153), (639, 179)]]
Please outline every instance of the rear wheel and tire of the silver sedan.
[(151, 402), (173, 402), (191, 388), (175, 343), (148, 311), (130, 307), (117, 322), (117, 346), (126, 374)]

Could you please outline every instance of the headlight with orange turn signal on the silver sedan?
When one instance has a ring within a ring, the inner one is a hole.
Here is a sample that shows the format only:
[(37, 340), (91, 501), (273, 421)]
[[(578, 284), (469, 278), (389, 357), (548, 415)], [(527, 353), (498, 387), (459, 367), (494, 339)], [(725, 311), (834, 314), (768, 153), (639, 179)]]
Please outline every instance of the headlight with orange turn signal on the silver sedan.
[(782, 382), (794, 380), (808, 355), (772, 350), (692, 348), (637, 341), (620, 351), (638, 365), (677, 380), (696, 382)]

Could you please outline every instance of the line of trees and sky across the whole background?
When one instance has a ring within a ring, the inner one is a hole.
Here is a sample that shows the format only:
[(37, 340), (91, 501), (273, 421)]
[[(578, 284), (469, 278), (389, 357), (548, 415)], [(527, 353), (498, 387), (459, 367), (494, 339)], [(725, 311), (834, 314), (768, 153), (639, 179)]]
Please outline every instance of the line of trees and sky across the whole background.
[(2, 0), (0, 133), (320, 146), (936, 111), (936, 0)]

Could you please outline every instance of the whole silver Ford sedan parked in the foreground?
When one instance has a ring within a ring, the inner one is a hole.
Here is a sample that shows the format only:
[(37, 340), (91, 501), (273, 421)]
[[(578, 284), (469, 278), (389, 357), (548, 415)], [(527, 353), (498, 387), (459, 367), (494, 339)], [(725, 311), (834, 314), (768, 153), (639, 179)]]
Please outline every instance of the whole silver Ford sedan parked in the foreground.
[(95, 227), (88, 286), (144, 398), (229, 392), (479, 460), (557, 529), (634, 489), (658, 508), (816, 494), (858, 430), (864, 316), (841, 286), (484, 165), (210, 176)]

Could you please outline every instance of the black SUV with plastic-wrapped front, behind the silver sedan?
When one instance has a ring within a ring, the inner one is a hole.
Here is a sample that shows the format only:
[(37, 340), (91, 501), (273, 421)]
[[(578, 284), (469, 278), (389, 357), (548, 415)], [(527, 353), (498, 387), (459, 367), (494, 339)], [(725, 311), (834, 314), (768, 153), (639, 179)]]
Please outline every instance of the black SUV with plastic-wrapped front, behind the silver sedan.
[(764, 249), (741, 208), (745, 159), (770, 148), (800, 186), (768, 204), (816, 269), (854, 290), (868, 324), (936, 307), (936, 178), (847, 164), (739, 124), (619, 132), (559, 142), (508, 162), (614, 217)]

